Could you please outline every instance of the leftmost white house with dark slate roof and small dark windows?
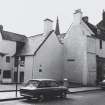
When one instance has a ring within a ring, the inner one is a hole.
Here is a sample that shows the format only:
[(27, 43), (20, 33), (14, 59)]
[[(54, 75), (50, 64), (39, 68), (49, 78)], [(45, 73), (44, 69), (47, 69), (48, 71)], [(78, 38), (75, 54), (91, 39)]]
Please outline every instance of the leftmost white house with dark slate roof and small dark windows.
[(14, 54), (19, 45), (24, 45), (26, 37), (3, 30), (0, 25), (0, 82), (12, 82), (14, 72)]

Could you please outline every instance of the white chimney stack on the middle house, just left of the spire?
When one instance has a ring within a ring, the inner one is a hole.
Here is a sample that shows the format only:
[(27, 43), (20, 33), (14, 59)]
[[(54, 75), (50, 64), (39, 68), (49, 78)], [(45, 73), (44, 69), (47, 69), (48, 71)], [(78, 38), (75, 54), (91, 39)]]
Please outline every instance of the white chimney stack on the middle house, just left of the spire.
[(53, 21), (51, 19), (44, 20), (44, 34), (48, 34), (53, 30)]

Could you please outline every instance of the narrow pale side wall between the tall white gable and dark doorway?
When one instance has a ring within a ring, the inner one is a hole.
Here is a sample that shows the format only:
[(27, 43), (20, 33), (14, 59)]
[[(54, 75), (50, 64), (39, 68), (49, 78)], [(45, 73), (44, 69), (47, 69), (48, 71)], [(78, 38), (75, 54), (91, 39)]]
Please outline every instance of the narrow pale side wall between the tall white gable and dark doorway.
[(87, 37), (88, 84), (96, 84), (96, 38)]

